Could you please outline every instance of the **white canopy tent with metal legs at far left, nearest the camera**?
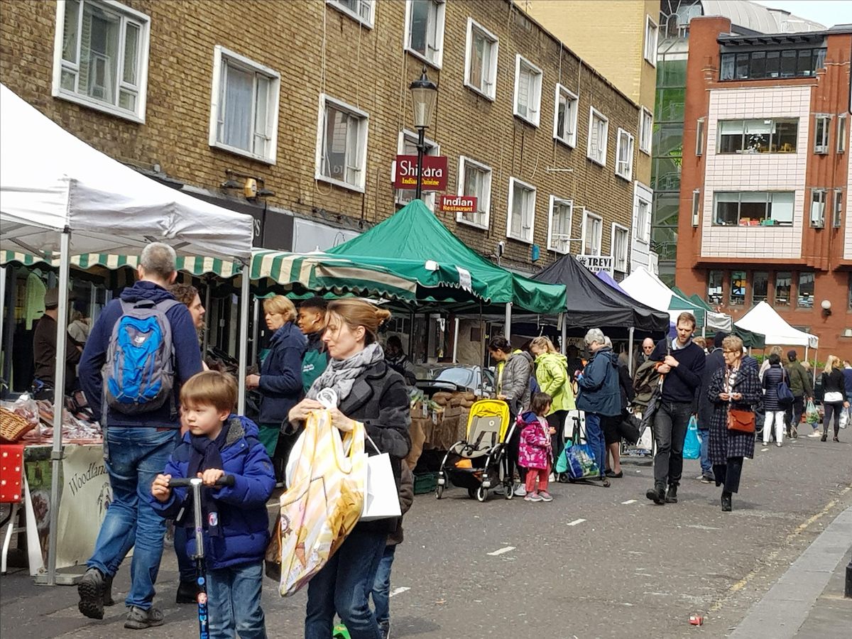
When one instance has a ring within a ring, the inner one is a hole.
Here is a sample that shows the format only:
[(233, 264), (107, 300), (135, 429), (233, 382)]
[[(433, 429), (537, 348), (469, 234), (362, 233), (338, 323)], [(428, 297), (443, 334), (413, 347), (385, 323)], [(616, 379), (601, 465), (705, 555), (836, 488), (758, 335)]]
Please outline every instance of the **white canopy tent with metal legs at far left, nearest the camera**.
[[(193, 198), (142, 176), (89, 147), (0, 84), (0, 247), (33, 255), (57, 254), (59, 321), (66, 332), (68, 271), (72, 254), (138, 254), (165, 242), (182, 255), (221, 256), (248, 265), (252, 219)], [(249, 278), (243, 278), (239, 350), (245, 377)], [(2, 312), (0, 312), (2, 315)], [(56, 340), (64, 361), (66, 340)], [(56, 366), (55, 389), (65, 388)], [(245, 388), (240, 385), (240, 410)], [(56, 578), (56, 524), (62, 458), (62, 394), (54, 406), (48, 584)]]

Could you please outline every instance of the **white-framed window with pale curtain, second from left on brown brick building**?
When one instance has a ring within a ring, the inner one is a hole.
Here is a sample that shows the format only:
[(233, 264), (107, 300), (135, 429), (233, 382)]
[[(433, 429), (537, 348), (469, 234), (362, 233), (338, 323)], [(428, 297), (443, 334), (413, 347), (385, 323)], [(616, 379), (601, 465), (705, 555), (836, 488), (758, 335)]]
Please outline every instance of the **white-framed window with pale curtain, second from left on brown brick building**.
[(277, 72), (216, 45), (210, 146), (274, 164), (279, 83)]

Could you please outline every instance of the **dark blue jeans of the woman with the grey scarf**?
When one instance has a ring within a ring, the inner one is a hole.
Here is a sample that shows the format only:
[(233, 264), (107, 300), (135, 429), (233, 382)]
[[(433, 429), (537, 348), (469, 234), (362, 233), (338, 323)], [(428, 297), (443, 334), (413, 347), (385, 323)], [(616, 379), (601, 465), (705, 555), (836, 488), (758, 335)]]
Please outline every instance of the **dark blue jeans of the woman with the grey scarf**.
[(368, 597), (387, 541), (387, 533), (357, 528), (349, 533), (337, 553), (308, 583), (304, 639), (328, 639), (334, 613), (352, 639), (381, 639)]

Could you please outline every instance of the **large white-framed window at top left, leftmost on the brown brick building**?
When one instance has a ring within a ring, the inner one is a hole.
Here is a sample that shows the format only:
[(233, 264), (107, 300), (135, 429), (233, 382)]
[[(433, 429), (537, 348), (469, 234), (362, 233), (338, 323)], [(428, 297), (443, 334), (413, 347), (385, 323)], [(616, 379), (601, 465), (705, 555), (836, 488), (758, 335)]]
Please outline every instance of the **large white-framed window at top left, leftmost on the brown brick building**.
[(144, 123), (150, 26), (119, 3), (56, 3), (53, 95)]

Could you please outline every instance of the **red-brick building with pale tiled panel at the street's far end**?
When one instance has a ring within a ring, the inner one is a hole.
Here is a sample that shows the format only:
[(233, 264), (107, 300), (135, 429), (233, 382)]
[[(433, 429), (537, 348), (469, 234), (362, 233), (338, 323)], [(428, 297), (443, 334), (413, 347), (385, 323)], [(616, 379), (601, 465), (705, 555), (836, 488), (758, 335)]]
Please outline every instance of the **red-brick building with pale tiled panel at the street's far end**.
[(690, 23), (676, 284), (760, 301), (852, 354), (852, 27), (731, 35)]

